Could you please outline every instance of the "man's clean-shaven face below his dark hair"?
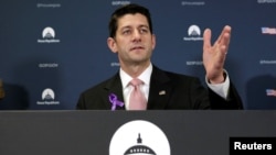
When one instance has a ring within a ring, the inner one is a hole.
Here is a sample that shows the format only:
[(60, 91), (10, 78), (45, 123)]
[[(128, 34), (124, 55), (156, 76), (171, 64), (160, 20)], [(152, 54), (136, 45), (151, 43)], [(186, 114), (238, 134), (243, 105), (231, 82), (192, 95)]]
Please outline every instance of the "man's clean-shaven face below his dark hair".
[(123, 65), (149, 63), (155, 45), (147, 18), (139, 13), (118, 19), (116, 36), (108, 38), (109, 48), (118, 53)]

